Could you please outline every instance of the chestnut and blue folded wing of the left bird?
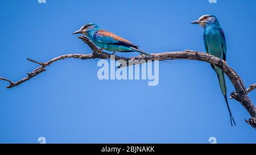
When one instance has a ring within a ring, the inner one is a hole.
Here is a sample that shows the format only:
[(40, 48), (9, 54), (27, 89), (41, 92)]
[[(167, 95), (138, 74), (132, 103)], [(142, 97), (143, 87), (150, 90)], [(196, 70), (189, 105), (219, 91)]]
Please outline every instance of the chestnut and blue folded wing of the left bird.
[(114, 33), (108, 32), (105, 30), (97, 31), (96, 33), (93, 34), (93, 37), (95, 40), (105, 44), (115, 44), (115, 45), (123, 45), (123, 46), (138, 48), (137, 45), (134, 45), (130, 41), (123, 39), (122, 37), (119, 37)]

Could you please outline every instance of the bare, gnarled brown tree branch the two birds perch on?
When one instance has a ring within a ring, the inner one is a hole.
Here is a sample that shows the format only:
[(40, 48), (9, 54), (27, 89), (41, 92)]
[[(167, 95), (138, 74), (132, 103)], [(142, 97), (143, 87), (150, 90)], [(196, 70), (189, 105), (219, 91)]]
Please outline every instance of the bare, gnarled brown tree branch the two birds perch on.
[[(107, 59), (110, 58), (110, 54), (106, 52), (100, 51), (96, 45), (92, 43), (87, 37), (85, 36), (79, 36), (79, 38), (84, 41), (86, 44), (89, 45), (89, 47), (92, 49), (93, 53), (89, 55), (84, 55), (84, 54), (71, 54), (71, 55), (62, 55), (59, 57), (55, 57), (47, 62), (38, 62), (35, 60), (32, 60), (30, 58), (27, 58), (27, 60), (31, 62), (35, 62), (36, 64), (39, 64), (40, 67), (36, 68), (30, 73), (27, 73), (28, 76), (24, 77), (18, 82), (13, 82), (10, 79), (7, 78), (2, 78), (0, 77), (0, 80), (2, 81), (7, 81), (10, 83), (7, 88), (12, 88), (15, 86), (20, 85), (23, 82), (28, 81), (29, 79), (37, 76), (38, 74), (45, 72), (46, 67), (51, 65), (53, 62), (59, 61), (59, 60), (64, 60), (65, 58), (79, 58), (81, 60), (86, 60), (86, 59), (92, 59), (92, 58), (103, 58)], [(127, 65), (134, 65), (134, 64), (141, 64), (139, 60), (146, 60), (147, 61), (162, 61), (162, 60), (175, 60), (175, 59), (185, 59), (185, 60), (197, 60), (197, 61), (204, 61), (208, 62), (209, 64), (216, 65), (218, 68), (221, 68), (223, 72), (228, 76), (230, 81), (232, 82), (234, 88), (236, 91), (231, 93), (231, 97), (236, 99), (238, 102), (242, 104), (243, 107), (246, 108), (246, 110), (249, 112), (251, 118), (246, 120), (248, 124), (251, 125), (251, 127), (254, 127), (256, 129), (256, 107), (254, 106), (254, 103), (251, 101), (251, 99), (247, 96), (247, 93), (250, 91), (254, 90), (256, 88), (256, 83), (251, 85), (248, 89), (246, 89), (242, 79), (238, 76), (238, 74), (230, 68), (230, 66), (224, 61), (221, 60), (218, 57), (208, 55), (202, 52), (196, 52), (196, 51), (190, 51), (190, 50), (185, 50), (185, 51), (180, 51), (180, 52), (165, 52), (165, 53), (152, 53), (151, 55), (154, 55), (156, 58), (152, 57), (145, 57), (143, 55), (137, 56), (137, 57), (131, 57), (131, 58), (126, 58), (126, 57), (119, 57), (115, 56), (115, 60), (124, 60), (127, 62)], [(132, 61), (133, 63), (129, 63)], [(145, 62), (145, 61), (144, 61)], [(121, 66), (122, 67), (122, 66)]]

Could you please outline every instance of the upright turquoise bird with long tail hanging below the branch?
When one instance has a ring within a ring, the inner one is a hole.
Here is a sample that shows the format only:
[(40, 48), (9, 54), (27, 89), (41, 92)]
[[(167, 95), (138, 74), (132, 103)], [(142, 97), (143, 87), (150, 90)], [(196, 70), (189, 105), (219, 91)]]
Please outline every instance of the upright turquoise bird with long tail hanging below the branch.
[[(224, 31), (220, 27), (220, 23), (218, 22), (216, 16), (203, 15), (198, 20), (193, 21), (192, 24), (199, 24), (204, 28), (204, 46), (206, 53), (226, 61), (226, 39)], [(211, 66), (217, 74), (218, 83), (220, 84), (221, 92), (224, 95), (226, 105), (228, 106), (230, 122), (233, 126), (232, 121), (234, 122), (234, 119), (229, 108), (228, 98), (226, 97), (226, 82), (224, 73), (217, 66)], [(234, 125), (236, 125), (235, 122)]]

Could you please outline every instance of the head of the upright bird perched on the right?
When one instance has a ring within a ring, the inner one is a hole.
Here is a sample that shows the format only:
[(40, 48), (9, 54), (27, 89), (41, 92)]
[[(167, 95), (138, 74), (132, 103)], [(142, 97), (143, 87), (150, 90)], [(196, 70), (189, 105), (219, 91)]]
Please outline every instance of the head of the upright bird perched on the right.
[(202, 27), (212, 26), (220, 27), (218, 19), (214, 15), (202, 15), (199, 19), (191, 22), (191, 24), (200, 24)]

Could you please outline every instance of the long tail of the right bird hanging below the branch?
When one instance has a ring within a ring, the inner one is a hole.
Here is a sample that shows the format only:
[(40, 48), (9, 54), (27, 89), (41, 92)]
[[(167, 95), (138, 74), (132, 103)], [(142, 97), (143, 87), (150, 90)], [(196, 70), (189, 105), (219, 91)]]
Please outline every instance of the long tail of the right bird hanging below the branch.
[[(231, 125), (233, 127), (233, 123), (232, 121), (234, 122), (234, 118), (232, 116), (232, 113), (231, 113), (231, 110), (229, 108), (229, 103), (228, 103), (228, 98), (226, 97), (226, 81), (225, 81), (225, 77), (224, 77), (224, 73), (223, 71), (218, 68), (217, 66), (212, 66), (217, 74), (217, 77), (218, 77), (218, 83), (220, 85), (220, 89), (221, 89), (221, 92), (222, 94), (224, 95), (224, 98), (225, 98), (225, 101), (226, 101), (226, 106), (228, 106), (228, 110), (229, 110), (229, 116), (230, 116), (230, 122), (231, 122)], [(236, 122), (234, 122), (234, 125), (236, 125)]]

